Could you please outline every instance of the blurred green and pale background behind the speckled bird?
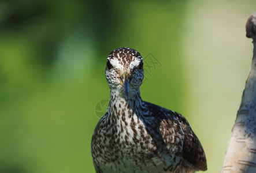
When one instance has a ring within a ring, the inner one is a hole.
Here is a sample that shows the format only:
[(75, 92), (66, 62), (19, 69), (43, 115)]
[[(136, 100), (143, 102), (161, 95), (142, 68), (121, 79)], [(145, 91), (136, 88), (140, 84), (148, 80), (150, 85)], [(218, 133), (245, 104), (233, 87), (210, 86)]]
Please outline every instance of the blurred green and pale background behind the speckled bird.
[[(151, 54), (142, 98), (180, 112), (219, 172), (250, 67), (256, 1), (0, 1), (0, 172), (94, 172), (106, 57)], [(149, 69), (148, 69), (149, 70)], [(103, 103), (103, 102), (102, 102)]]

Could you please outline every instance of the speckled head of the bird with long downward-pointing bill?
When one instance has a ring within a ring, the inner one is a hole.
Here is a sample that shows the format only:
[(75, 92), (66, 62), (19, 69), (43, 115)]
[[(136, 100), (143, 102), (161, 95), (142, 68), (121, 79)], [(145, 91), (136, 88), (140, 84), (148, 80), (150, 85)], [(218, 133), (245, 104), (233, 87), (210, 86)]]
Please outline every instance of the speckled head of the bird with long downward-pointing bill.
[(109, 88), (123, 90), (128, 100), (129, 92), (138, 90), (143, 81), (142, 56), (132, 48), (113, 50), (107, 57), (105, 75)]

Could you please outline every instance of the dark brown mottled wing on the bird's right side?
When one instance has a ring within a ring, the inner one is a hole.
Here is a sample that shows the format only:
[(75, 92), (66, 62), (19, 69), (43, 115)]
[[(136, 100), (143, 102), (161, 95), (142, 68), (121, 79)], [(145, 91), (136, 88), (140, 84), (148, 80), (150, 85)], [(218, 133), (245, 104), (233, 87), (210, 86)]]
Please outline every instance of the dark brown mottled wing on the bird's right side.
[(181, 155), (185, 163), (197, 171), (207, 170), (205, 152), (203, 151), (201, 142), (196, 137), (184, 116), (149, 102), (146, 102), (146, 104), (154, 116), (154, 126), (158, 127), (161, 131), (165, 145), (173, 146), (173, 142), (176, 142), (176, 145), (180, 146), (180, 140), (183, 140)]

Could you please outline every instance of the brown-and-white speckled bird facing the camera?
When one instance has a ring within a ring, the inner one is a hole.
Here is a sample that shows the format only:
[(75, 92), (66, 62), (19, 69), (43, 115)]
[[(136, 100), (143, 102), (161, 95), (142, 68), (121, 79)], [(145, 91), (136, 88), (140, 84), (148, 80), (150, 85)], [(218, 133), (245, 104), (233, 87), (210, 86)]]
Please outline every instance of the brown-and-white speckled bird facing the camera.
[(143, 58), (138, 51), (121, 47), (110, 52), (105, 76), (109, 106), (91, 140), (97, 173), (207, 170), (201, 142), (184, 116), (142, 100)]

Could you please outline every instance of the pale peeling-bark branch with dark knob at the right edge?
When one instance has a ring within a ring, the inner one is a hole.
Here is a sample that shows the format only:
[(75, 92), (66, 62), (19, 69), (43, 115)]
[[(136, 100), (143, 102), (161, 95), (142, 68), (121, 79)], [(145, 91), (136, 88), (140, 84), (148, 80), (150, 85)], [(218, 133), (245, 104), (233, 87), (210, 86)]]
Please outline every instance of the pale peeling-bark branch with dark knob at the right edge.
[(246, 36), (253, 39), (253, 61), (221, 172), (256, 173), (256, 13), (248, 17)]

